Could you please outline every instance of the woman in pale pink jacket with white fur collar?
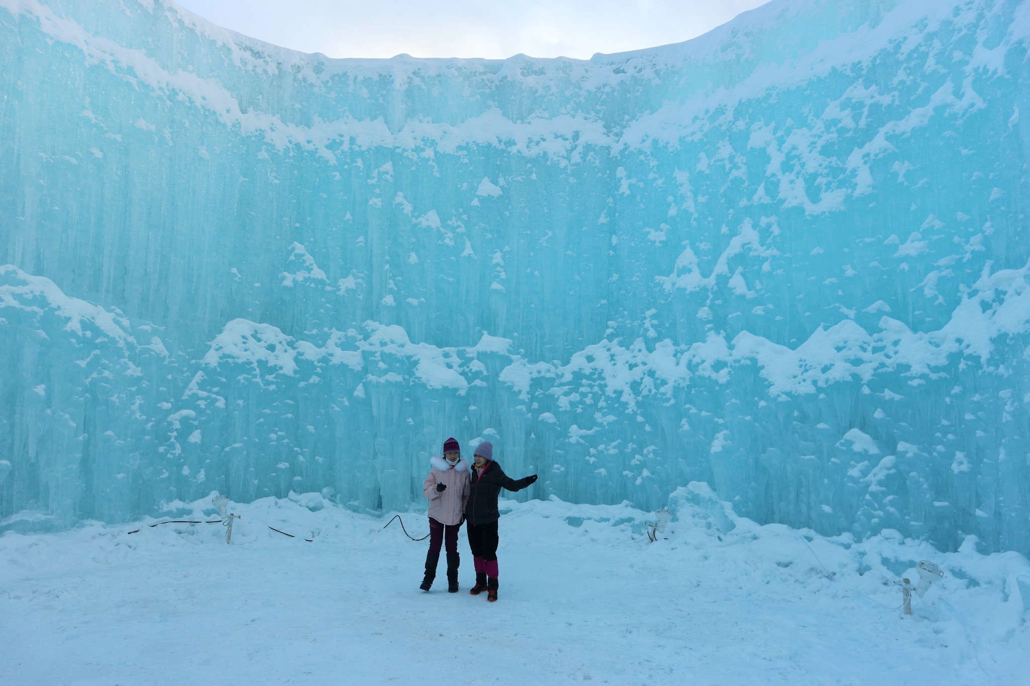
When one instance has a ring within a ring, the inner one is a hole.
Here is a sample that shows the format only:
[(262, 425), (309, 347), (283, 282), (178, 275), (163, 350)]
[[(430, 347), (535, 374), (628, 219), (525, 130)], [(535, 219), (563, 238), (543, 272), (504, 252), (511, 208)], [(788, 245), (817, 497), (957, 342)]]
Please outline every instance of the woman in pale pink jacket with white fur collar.
[(428, 590), (437, 577), (440, 546), (447, 542), (447, 590), (457, 592), (457, 533), (465, 520), (469, 502), (469, 463), (461, 459), (460, 446), (453, 438), (444, 441), (444, 457), (430, 459), (433, 469), (422, 483), (422, 495), (430, 501), (430, 552), (425, 555), (425, 577), (418, 587)]

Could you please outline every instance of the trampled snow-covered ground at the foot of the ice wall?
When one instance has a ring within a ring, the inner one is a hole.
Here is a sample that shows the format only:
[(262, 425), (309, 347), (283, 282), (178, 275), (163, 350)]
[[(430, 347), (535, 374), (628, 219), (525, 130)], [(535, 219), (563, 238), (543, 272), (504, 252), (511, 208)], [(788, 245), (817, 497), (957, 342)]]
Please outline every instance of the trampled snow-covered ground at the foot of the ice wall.
[[(1027, 683), (1022, 555), (760, 527), (700, 484), (673, 503), (655, 543), (625, 506), (505, 504), (495, 604), (468, 592), (464, 534), (461, 592), (441, 562), (423, 593), (424, 542), (313, 495), (235, 506), (232, 545), (217, 523), (146, 526), (163, 519), (8, 532), (0, 682)], [(891, 582), (921, 559), (946, 575), (903, 617)]]

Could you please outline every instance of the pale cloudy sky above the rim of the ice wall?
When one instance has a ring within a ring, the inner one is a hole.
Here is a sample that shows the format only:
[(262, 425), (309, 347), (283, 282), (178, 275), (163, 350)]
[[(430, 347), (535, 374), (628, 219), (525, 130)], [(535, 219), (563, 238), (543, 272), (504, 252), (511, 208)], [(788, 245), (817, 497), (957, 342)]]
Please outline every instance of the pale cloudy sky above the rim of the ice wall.
[(239, 33), (332, 58), (589, 59), (678, 43), (766, 0), (176, 0)]

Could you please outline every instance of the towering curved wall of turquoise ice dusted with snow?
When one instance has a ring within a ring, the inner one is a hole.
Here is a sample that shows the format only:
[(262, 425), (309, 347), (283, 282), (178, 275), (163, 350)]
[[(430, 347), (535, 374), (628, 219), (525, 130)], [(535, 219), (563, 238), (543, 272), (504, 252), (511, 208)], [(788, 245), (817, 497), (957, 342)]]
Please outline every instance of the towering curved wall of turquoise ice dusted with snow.
[(589, 61), (0, 0), (0, 530), (219, 491), (1030, 552), (1030, 2), (776, 0)]

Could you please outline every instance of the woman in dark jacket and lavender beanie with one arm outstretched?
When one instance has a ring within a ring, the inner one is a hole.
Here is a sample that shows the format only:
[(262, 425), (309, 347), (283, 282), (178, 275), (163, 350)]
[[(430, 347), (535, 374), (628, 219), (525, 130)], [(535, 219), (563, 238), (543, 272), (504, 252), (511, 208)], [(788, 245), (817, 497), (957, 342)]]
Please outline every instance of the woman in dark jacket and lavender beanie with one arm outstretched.
[(478, 595), (487, 591), (486, 600), (497, 600), (497, 496), (501, 489), (521, 491), (537, 480), (537, 475), (522, 479), (509, 478), (493, 462), (493, 443), (483, 441), (473, 454), (469, 502), (465, 506), (465, 521), (476, 565), (476, 585), (469, 592)]

